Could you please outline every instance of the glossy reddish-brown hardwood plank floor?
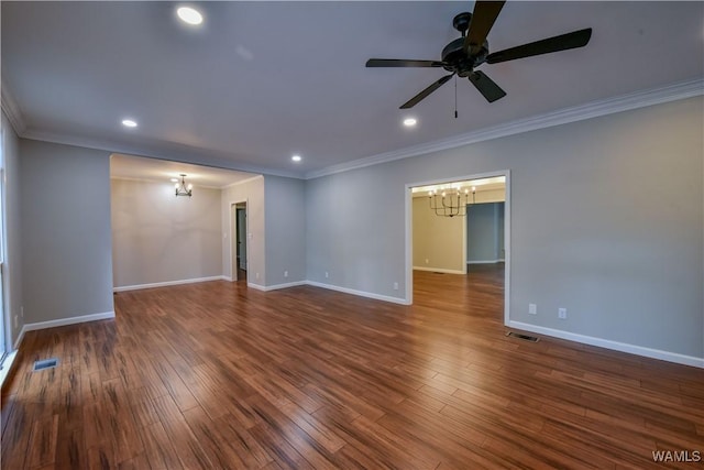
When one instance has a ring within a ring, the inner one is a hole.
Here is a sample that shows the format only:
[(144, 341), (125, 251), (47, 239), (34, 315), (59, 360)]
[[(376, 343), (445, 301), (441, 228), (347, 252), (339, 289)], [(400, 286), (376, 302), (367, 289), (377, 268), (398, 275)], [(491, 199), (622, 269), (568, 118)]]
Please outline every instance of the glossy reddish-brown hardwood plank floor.
[(506, 337), (497, 269), (415, 283), (411, 307), (227, 282), (125, 292), (116, 320), (28, 332), (2, 468), (701, 468), (652, 452), (704, 460), (704, 371)]

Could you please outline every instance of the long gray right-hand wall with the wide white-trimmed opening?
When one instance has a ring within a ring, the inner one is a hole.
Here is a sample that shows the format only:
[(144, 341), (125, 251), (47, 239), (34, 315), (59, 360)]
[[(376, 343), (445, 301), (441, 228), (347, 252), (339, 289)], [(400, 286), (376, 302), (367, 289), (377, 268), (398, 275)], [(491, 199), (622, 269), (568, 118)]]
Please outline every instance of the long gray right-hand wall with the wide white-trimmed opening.
[(330, 284), (381, 295), (398, 281), (403, 297), (405, 185), (510, 170), (512, 320), (702, 358), (702, 107), (691, 98), (309, 181), (308, 278), (329, 271)]

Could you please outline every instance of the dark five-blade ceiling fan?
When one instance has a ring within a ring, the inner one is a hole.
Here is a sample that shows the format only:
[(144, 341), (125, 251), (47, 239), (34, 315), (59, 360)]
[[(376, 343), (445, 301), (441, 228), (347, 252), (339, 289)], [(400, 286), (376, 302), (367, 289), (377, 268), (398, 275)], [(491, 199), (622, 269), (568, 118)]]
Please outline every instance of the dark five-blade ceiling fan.
[(494, 102), (506, 96), (498, 85), (481, 70), (475, 70), (480, 65), (497, 64), (499, 62), (515, 61), (517, 58), (534, 55), (549, 54), (558, 51), (566, 51), (583, 47), (592, 37), (592, 29), (573, 31), (559, 36), (548, 37), (504, 51), (488, 52), (486, 36), (491, 31), (505, 1), (480, 1), (474, 3), (472, 13), (463, 12), (454, 17), (452, 25), (462, 33), (462, 37), (452, 41), (442, 50), (441, 61), (405, 61), (396, 58), (370, 58), (367, 67), (442, 67), (450, 75), (446, 75), (435, 81), (425, 90), (406, 101), (400, 109), (413, 108), (431, 92), (444, 85), (453, 76), (466, 77), (474, 87), (486, 98)]

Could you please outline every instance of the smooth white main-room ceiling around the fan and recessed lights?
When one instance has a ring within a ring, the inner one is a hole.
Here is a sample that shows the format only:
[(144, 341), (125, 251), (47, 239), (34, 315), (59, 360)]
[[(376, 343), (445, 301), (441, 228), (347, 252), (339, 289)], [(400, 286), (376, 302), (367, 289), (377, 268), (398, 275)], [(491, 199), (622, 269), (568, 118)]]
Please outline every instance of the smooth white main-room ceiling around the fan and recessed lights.
[[(704, 2), (509, 1), (491, 51), (592, 28), (586, 47), (481, 69), (398, 107), (442, 69), (365, 68), (370, 57), (439, 59), (473, 2), (2, 1), (3, 101), (23, 136), (294, 176), (556, 110), (704, 77)], [(402, 118), (418, 119), (406, 129)], [(125, 117), (138, 129), (120, 125)], [(300, 153), (304, 161), (290, 161)]]

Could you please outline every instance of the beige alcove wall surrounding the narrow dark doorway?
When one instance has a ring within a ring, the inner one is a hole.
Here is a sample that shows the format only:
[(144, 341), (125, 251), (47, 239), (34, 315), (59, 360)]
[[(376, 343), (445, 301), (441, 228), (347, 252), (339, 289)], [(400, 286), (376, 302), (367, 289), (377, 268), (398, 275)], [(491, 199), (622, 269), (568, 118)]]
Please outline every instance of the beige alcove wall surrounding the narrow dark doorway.
[[(248, 284), (264, 286), (266, 270), (264, 265), (264, 176), (223, 188), (220, 198), (222, 214), (222, 273), (232, 276), (230, 243), (230, 206), (246, 201), (248, 234)], [(257, 276), (258, 274), (258, 276)]]

